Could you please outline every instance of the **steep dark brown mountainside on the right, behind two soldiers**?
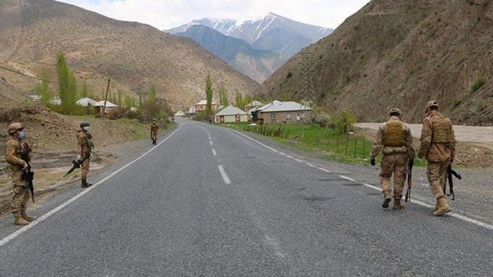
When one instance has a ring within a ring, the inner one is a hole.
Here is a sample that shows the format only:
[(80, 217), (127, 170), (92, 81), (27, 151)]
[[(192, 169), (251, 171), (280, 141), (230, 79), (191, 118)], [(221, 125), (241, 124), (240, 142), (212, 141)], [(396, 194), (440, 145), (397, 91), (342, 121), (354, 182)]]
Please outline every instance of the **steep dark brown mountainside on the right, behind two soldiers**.
[(350, 109), (369, 122), (398, 107), (419, 123), (426, 102), (437, 100), (456, 124), (491, 125), (492, 22), (486, 0), (373, 0), (257, 93)]

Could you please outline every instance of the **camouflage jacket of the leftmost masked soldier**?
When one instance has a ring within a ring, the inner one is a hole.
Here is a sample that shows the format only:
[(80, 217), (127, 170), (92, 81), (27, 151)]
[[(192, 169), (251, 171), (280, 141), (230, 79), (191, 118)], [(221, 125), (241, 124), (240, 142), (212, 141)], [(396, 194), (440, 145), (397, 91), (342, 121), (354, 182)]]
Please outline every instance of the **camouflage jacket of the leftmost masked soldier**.
[[(19, 140), (17, 137), (12, 137), (5, 144), (5, 161), (8, 163), (8, 172), (15, 184), (20, 185), (22, 182), (22, 168), (27, 166), (27, 162), (31, 159), (31, 147), (27, 142)], [(22, 155), (27, 161), (22, 159)]]

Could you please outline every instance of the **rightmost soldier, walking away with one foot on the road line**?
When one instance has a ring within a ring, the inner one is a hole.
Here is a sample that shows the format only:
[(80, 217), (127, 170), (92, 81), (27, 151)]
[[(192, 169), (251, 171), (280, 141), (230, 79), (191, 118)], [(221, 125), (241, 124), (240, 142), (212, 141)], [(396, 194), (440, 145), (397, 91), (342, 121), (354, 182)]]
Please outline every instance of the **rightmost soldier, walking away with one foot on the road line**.
[(426, 114), (426, 118), (423, 119), (418, 158), (426, 157), (428, 161), (428, 182), (431, 193), (437, 199), (433, 215), (439, 217), (452, 210), (445, 198), (444, 188), (447, 166), (454, 162), (455, 134), (452, 123), (440, 113), (436, 101), (428, 102)]

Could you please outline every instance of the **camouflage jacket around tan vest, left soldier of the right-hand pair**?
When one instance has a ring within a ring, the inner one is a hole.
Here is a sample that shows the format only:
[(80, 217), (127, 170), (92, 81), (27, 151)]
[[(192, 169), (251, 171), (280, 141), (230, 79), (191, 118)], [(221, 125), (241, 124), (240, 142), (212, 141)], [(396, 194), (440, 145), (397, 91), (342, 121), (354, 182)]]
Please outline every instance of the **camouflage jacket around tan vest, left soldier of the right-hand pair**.
[(373, 142), (372, 153), (370, 154), (372, 157), (376, 157), (379, 155), (380, 149), (382, 150), (383, 155), (387, 154), (407, 154), (408, 158), (414, 158), (414, 148), (412, 147), (412, 135), (411, 129), (409, 125), (406, 123), (402, 123), (402, 133), (405, 135), (404, 137), (404, 145), (398, 147), (385, 146), (383, 143), (384, 137), (387, 131), (387, 123), (392, 123), (400, 121), (397, 116), (390, 116), (387, 122), (382, 123), (379, 126), (379, 129), (376, 131), (376, 137)]

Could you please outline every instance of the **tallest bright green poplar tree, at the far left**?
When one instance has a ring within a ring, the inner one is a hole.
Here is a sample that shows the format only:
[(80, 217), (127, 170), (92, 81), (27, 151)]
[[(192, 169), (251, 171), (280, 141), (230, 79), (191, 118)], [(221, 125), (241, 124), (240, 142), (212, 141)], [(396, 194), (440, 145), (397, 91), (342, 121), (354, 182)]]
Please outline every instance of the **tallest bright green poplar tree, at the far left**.
[(60, 94), (60, 112), (70, 114), (77, 101), (77, 80), (74, 72), (67, 65), (63, 52), (57, 54), (56, 72), (58, 74), (58, 93)]

